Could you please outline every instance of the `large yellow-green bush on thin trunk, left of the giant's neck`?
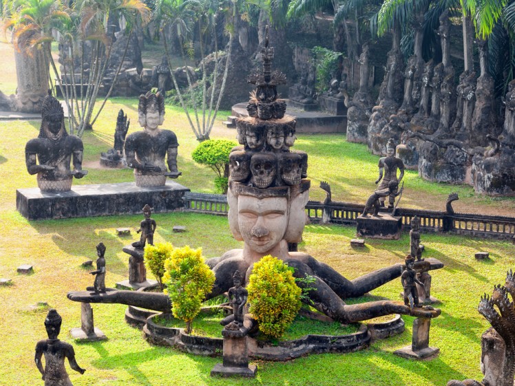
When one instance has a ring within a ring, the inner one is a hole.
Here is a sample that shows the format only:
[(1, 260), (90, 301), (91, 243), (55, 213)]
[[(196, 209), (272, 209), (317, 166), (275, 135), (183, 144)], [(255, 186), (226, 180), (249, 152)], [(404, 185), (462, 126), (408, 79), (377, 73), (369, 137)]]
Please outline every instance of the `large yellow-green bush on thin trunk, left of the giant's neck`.
[(215, 275), (204, 263), (202, 248), (189, 246), (175, 248), (165, 261), (163, 283), (171, 300), (174, 317), (186, 322), (186, 332), (191, 332), (191, 321), (200, 312), (202, 301), (213, 288)]

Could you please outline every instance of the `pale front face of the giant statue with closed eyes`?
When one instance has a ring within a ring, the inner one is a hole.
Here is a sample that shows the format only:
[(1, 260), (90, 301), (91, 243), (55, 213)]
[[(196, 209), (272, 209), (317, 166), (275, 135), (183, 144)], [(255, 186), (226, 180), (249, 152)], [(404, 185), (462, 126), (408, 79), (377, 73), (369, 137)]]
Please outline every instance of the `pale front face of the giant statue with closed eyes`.
[(238, 198), (238, 227), (251, 250), (266, 253), (284, 237), (288, 226), (286, 197), (258, 199), (249, 195)]

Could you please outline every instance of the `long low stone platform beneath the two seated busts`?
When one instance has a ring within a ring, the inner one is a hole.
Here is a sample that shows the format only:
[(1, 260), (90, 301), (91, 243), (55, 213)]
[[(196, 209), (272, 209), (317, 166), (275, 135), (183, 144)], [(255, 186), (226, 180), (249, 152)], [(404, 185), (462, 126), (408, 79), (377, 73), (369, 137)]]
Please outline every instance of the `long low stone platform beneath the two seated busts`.
[(30, 220), (140, 214), (145, 204), (153, 213), (164, 213), (182, 208), (186, 192), (187, 187), (171, 180), (152, 187), (136, 186), (134, 182), (77, 185), (63, 193), (17, 189), (16, 208)]

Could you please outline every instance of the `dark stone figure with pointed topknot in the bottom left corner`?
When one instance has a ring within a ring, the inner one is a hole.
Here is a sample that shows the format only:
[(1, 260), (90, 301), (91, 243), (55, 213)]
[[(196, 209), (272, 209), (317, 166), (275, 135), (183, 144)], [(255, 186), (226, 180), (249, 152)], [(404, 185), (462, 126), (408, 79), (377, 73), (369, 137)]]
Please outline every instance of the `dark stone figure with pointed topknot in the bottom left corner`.
[[(70, 367), (76, 372), (84, 374), (86, 371), (75, 361), (75, 352), (72, 345), (57, 339), (59, 332), (61, 332), (62, 321), (61, 315), (59, 315), (56, 310), (50, 310), (45, 319), (48, 339), (39, 341), (36, 344), (36, 356), (34, 356), (34, 361), (43, 376), (42, 379), (45, 381), (45, 386), (73, 386), (65, 369), (65, 358), (68, 358)], [(44, 369), (41, 363), (41, 356), (43, 355), (45, 355)]]

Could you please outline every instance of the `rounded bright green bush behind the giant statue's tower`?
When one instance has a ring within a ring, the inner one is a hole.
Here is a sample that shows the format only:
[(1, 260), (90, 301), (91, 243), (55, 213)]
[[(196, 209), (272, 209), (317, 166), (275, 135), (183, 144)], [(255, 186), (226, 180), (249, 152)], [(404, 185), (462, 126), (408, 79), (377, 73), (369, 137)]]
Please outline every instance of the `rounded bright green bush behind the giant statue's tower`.
[(227, 178), (229, 178), (229, 153), (236, 146), (236, 142), (230, 140), (207, 140), (201, 142), (191, 158), (198, 164), (207, 165), (218, 177), (215, 179), (215, 186), (218, 191), (227, 193)]

